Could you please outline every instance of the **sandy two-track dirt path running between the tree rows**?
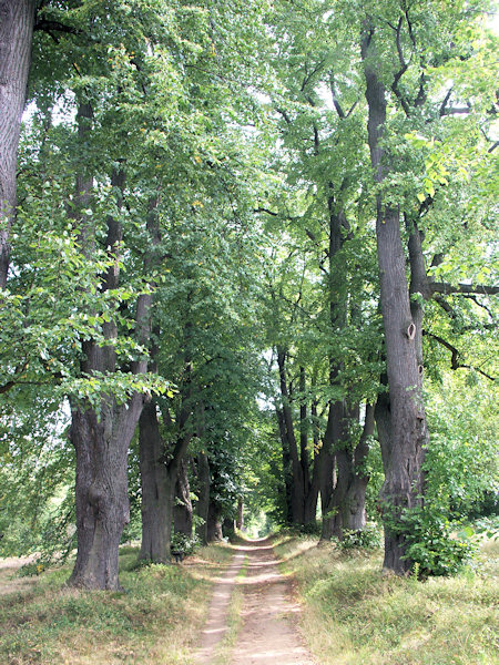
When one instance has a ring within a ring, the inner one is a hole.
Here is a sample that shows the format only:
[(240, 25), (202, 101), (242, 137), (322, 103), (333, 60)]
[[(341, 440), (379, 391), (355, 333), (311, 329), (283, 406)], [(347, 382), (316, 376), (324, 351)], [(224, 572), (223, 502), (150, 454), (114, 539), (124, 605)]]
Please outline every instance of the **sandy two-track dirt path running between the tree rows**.
[(196, 663), (216, 663), (214, 649), (226, 631), (230, 595), (247, 557), (246, 575), (238, 581), (244, 594), (242, 625), (227, 665), (313, 665), (296, 630), (299, 606), (293, 602), (289, 584), (278, 571), (271, 542), (254, 541), (236, 550), (232, 571), (215, 585)]

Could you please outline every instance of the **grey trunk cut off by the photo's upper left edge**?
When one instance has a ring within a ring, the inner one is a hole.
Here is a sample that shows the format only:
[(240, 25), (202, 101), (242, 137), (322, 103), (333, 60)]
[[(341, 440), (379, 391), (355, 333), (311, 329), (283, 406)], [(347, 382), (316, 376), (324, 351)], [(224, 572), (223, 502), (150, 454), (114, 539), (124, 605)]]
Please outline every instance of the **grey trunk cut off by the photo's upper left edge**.
[(0, 0), (0, 288), (9, 270), (16, 171), (24, 110), (35, 0)]

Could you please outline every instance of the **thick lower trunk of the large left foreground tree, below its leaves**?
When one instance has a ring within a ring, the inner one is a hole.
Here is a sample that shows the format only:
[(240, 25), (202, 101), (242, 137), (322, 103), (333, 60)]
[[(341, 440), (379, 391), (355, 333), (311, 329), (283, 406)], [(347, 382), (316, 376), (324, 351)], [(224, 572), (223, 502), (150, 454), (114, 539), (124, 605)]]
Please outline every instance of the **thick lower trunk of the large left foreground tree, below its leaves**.
[(77, 452), (78, 554), (69, 583), (118, 590), (118, 548), (129, 521), (128, 449), (142, 410), (142, 396), (116, 407), (102, 401), (100, 418), (74, 407), (70, 430)]

